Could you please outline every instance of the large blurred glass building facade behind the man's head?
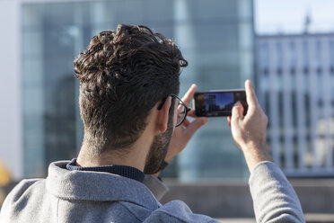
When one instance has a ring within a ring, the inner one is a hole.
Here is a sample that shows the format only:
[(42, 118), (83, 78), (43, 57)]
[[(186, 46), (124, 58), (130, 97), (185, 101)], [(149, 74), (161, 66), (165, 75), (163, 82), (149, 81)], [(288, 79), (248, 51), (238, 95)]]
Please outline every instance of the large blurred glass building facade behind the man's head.
[[(119, 23), (145, 24), (175, 40), (188, 59), (180, 95), (241, 88), (254, 75), (251, 0), (112, 0), (22, 4), (24, 176), (77, 156), (83, 138), (73, 60), (92, 36)], [(213, 118), (164, 173), (181, 181), (245, 178), (227, 122)]]

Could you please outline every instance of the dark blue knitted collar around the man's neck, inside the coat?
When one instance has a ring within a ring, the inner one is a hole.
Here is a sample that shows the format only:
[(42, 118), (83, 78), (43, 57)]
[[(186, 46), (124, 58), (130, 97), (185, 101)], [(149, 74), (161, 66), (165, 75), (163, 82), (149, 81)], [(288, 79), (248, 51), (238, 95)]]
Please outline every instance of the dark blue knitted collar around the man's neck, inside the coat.
[(80, 170), (80, 171), (96, 171), (96, 172), (106, 172), (110, 174), (118, 174), (138, 182), (143, 183), (145, 174), (138, 170), (135, 167), (128, 165), (100, 165), (100, 166), (92, 166), (92, 167), (82, 167), (75, 165), (76, 158), (72, 159), (66, 165), (67, 170)]

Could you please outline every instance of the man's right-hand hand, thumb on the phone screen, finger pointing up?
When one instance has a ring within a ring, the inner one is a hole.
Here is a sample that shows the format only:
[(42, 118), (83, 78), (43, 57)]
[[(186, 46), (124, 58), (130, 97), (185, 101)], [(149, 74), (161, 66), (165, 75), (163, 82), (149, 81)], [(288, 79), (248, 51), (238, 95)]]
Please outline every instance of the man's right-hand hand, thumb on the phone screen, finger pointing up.
[(242, 103), (233, 106), (232, 117), (227, 117), (231, 127), (234, 142), (242, 149), (250, 171), (259, 162), (270, 160), (266, 151), (266, 129), (268, 118), (259, 105), (251, 86), (251, 81), (245, 82), (248, 111), (243, 116)]

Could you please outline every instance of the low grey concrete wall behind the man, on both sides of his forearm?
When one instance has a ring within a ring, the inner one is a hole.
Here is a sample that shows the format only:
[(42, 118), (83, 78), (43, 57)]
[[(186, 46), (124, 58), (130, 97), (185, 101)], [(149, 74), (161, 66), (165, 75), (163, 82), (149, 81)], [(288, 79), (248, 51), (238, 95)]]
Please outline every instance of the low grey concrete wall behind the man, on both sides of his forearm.
[[(291, 183), (304, 213), (334, 213), (334, 179), (294, 179)], [(163, 197), (162, 203), (181, 200), (194, 213), (213, 218), (254, 218), (246, 182), (167, 184), (171, 191)]]

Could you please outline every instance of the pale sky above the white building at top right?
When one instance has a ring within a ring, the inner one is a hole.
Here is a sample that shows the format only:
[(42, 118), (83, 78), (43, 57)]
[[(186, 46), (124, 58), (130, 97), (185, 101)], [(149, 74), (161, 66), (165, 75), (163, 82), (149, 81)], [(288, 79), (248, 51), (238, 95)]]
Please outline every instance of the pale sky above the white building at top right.
[(258, 34), (303, 32), (310, 15), (311, 32), (334, 32), (334, 0), (254, 0)]

